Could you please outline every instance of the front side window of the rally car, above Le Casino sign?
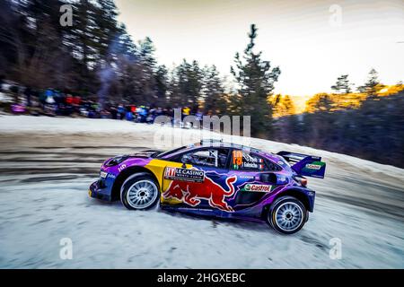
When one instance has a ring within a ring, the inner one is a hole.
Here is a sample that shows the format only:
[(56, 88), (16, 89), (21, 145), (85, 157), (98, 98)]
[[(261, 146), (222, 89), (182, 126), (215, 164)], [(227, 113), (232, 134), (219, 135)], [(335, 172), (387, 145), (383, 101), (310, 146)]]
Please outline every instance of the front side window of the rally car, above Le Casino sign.
[(202, 149), (182, 154), (180, 161), (186, 157), (190, 164), (225, 169), (228, 153), (227, 149)]

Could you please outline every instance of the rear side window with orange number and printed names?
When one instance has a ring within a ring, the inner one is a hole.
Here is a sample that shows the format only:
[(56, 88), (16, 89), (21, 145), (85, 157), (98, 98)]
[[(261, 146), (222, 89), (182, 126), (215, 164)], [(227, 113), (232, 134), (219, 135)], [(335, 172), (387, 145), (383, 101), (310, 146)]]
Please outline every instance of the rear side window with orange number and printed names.
[(231, 166), (233, 170), (251, 171), (277, 171), (279, 167), (275, 163), (267, 161), (253, 152), (233, 150)]

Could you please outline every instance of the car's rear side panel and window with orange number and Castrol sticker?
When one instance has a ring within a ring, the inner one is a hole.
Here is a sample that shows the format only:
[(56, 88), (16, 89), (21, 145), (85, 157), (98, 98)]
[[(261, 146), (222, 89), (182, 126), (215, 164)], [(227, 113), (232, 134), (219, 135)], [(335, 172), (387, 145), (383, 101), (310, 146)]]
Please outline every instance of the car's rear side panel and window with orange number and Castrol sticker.
[(277, 187), (276, 165), (258, 152), (234, 149), (229, 176), (237, 177), (237, 189), (231, 205), (235, 211), (248, 208)]

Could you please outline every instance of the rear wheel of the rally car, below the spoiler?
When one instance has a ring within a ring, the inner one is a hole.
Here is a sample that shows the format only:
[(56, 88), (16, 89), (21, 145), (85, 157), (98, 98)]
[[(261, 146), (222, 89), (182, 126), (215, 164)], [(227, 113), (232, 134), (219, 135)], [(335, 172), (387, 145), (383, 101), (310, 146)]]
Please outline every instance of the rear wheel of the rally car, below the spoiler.
[[(293, 196), (282, 196), (270, 205), (267, 222), (282, 234), (293, 234), (303, 228), (308, 213), (300, 200)], [(288, 224), (290, 224), (288, 226)]]

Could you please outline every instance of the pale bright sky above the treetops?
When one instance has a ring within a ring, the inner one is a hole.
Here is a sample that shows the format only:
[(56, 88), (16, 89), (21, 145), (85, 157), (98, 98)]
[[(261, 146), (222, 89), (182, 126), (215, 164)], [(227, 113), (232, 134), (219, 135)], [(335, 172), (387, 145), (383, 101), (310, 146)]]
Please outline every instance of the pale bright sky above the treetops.
[(119, 21), (137, 41), (150, 37), (159, 64), (183, 58), (230, 66), (258, 27), (256, 50), (281, 75), (275, 92), (297, 97), (330, 91), (340, 74), (356, 86), (371, 68), (382, 83), (404, 81), (404, 1), (116, 0)]

